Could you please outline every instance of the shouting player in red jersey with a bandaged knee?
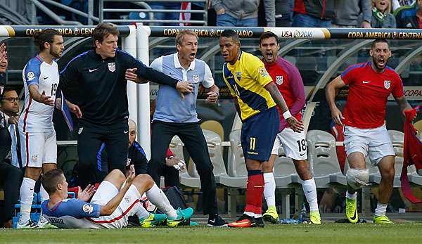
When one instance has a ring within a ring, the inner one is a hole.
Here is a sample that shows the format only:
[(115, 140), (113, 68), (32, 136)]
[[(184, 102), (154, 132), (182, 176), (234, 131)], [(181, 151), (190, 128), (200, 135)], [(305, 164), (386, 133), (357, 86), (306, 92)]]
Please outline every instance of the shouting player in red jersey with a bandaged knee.
[[(336, 124), (345, 124), (345, 150), (350, 169), (347, 170), (346, 216), (356, 223), (356, 191), (366, 186), (369, 169), (365, 167), (366, 155), (381, 173), (378, 205), (373, 222), (392, 224), (385, 216), (392, 193), (395, 176), (394, 158), (390, 136), (385, 128), (385, 104), (392, 94), (402, 110), (411, 109), (404, 97), (402, 79), (386, 65), (391, 57), (388, 41), (377, 39), (372, 42), (369, 55), (371, 62), (351, 65), (340, 76), (326, 86), (326, 98)], [(349, 85), (349, 96), (343, 114), (335, 105), (335, 96)]]

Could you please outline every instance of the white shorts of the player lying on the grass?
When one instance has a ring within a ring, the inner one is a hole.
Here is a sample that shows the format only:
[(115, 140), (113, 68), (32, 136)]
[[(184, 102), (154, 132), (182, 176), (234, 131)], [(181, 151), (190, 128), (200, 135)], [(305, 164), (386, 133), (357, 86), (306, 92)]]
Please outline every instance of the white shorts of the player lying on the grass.
[[(119, 190), (115, 185), (110, 181), (103, 181), (100, 186), (98, 186), (96, 193), (92, 197), (91, 203), (106, 205), (108, 201), (117, 195), (117, 193), (119, 193)], [(127, 226), (127, 218), (138, 212), (139, 207), (142, 207), (139, 199), (141, 199), (141, 195), (136, 186), (132, 185), (129, 187), (127, 193), (124, 194), (122, 201), (113, 214), (98, 218), (90, 218), (89, 220), (98, 224), (101, 228), (122, 229)]]

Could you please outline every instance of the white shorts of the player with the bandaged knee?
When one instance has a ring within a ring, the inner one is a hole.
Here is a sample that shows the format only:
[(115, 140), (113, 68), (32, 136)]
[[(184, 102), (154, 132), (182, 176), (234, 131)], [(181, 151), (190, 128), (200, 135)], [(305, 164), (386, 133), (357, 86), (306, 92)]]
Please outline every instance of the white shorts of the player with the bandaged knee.
[(360, 152), (369, 156), (373, 166), (378, 165), (385, 156), (394, 156), (394, 149), (385, 125), (373, 129), (359, 129), (345, 126), (345, 150), (350, 153)]

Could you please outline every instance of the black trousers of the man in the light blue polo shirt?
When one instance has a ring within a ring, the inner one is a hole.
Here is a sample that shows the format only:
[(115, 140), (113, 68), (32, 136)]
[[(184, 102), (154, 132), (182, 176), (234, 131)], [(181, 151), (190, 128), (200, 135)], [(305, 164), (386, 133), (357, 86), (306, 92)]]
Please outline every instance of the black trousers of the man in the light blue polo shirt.
[(179, 136), (188, 150), (198, 170), (200, 185), (203, 191), (204, 214), (217, 214), (217, 197), (215, 178), (208, 153), (207, 142), (199, 123), (153, 122), (153, 138), (151, 141), (151, 160), (148, 163), (148, 174), (156, 184), (160, 183), (158, 168), (165, 162), (165, 153), (173, 136)]

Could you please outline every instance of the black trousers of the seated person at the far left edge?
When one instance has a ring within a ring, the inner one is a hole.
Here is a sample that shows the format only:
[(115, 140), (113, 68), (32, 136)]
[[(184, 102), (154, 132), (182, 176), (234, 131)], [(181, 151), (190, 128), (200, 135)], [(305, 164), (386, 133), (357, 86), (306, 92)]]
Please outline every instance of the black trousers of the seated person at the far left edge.
[(1, 223), (9, 221), (13, 217), (22, 180), (21, 169), (4, 161), (0, 162), (0, 186), (4, 189), (4, 212), (0, 212), (0, 226)]

